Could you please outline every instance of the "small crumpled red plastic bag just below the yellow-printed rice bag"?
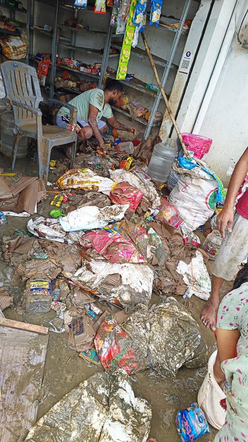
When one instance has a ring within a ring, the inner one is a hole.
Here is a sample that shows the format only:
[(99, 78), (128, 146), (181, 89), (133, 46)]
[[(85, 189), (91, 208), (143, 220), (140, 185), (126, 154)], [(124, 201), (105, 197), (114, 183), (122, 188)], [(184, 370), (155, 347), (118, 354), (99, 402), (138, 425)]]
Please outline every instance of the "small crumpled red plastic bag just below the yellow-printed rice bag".
[(125, 182), (117, 184), (115, 189), (109, 193), (109, 197), (114, 204), (129, 204), (130, 209), (134, 212), (143, 195), (143, 192)]

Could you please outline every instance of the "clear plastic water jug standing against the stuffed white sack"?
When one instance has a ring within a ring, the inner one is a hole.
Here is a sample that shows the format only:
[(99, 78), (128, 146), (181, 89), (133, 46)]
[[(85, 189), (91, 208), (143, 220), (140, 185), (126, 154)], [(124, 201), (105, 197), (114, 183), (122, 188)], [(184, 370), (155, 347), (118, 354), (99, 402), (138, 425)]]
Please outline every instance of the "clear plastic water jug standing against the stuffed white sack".
[(165, 143), (154, 146), (148, 166), (149, 177), (158, 183), (165, 183), (177, 154), (176, 140), (168, 138)]

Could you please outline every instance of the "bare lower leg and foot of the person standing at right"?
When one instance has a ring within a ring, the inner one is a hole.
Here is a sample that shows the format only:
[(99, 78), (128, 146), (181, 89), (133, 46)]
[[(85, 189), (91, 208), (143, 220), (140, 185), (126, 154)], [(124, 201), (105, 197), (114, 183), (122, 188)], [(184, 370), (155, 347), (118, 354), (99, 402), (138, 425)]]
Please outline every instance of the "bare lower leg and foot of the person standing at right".
[(200, 315), (200, 319), (204, 326), (208, 329), (210, 328), (212, 331), (216, 330), (215, 318), (220, 304), (220, 290), (223, 281), (224, 279), (219, 276), (212, 276), (211, 295)]

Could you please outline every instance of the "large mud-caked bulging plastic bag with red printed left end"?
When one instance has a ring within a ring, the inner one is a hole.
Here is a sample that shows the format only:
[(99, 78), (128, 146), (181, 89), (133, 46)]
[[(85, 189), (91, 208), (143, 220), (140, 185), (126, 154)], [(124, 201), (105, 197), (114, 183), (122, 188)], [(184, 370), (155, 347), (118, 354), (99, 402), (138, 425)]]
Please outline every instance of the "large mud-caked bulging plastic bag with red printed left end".
[(195, 368), (207, 361), (197, 322), (173, 297), (150, 308), (140, 306), (121, 326), (107, 316), (94, 342), (105, 369), (118, 366), (127, 374), (153, 368), (162, 376), (175, 376), (182, 365)]

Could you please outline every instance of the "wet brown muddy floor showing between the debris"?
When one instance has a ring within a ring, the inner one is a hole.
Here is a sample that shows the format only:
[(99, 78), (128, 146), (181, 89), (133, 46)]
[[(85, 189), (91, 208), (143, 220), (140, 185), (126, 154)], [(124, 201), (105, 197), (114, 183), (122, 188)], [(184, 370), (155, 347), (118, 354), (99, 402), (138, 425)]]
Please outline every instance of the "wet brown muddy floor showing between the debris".
[[(53, 149), (51, 158), (60, 156), (59, 151)], [(9, 166), (10, 160), (0, 154), (0, 167), (3, 167), (4, 171), (9, 171)], [(37, 165), (28, 158), (17, 160), (15, 171), (25, 175), (36, 175)], [(56, 176), (50, 173), (49, 181), (54, 182), (55, 180)], [(40, 215), (44, 217), (49, 215), (51, 199), (52, 196), (48, 196), (47, 200), (40, 205), (38, 208)], [(15, 232), (15, 229), (25, 228), (28, 218), (8, 217), (7, 221), (7, 224), (1, 226), (1, 235), (10, 236)], [(201, 240), (203, 238), (202, 236)], [(1, 285), (4, 284), (6, 271), (5, 263), (0, 261)], [(230, 286), (227, 286), (227, 284), (223, 285), (222, 296), (227, 293), (229, 288)], [(152, 303), (158, 302), (159, 299), (159, 297), (153, 295)], [(183, 301), (182, 298), (179, 299), (178, 297), (177, 299)], [(192, 306), (191, 313), (200, 324), (202, 335), (211, 354), (216, 348), (214, 333), (205, 329), (199, 320), (199, 314), (205, 302), (193, 296), (190, 303)], [(50, 311), (46, 315), (20, 315), (14, 308), (9, 307), (4, 310), (4, 315), (10, 319), (49, 326), (49, 321), (53, 319), (54, 312)], [(62, 396), (98, 370), (101, 370), (101, 368), (79, 358), (76, 352), (66, 347), (65, 333), (50, 332), (43, 385), (38, 397), (37, 417), (42, 417)], [(162, 379), (155, 371), (146, 370), (132, 378), (135, 394), (146, 398), (152, 406), (150, 435), (155, 437), (158, 442), (179, 441), (174, 423), (176, 413), (190, 403), (197, 401), (198, 389), (206, 371), (206, 367), (198, 370), (181, 368), (175, 379)], [(211, 434), (202, 437), (200, 440), (202, 442), (213, 441), (216, 433), (217, 430), (211, 428)]]

